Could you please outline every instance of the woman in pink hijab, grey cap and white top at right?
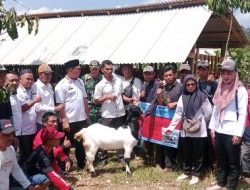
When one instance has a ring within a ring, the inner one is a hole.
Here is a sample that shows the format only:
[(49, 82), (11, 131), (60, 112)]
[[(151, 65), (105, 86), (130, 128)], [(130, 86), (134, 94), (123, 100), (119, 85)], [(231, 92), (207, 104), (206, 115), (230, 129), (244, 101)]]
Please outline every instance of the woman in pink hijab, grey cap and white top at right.
[(239, 81), (236, 63), (225, 59), (221, 79), (215, 92), (213, 114), (209, 124), (215, 139), (217, 184), (207, 190), (236, 189), (240, 175), (240, 144), (245, 129), (248, 95)]

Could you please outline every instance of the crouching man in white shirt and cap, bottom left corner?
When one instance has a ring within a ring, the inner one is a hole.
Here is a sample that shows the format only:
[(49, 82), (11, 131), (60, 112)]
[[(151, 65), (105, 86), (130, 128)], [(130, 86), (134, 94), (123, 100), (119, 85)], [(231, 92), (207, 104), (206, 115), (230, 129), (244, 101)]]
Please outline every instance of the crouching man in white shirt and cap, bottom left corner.
[(13, 142), (15, 129), (10, 120), (0, 120), (0, 189), (9, 189), (9, 176), (28, 190), (35, 190), (17, 163)]

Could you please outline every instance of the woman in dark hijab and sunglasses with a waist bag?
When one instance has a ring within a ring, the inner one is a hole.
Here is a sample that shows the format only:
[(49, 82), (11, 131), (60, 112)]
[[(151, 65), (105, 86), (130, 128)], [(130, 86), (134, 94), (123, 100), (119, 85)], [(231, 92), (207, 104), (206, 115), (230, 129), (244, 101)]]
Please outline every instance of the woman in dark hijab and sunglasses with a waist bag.
[[(180, 121), (183, 123), (184, 118), (193, 121), (199, 120), (200, 122), (198, 123), (199, 130), (196, 132), (188, 132), (182, 127), (183, 174), (177, 178), (177, 181), (192, 176), (189, 182), (190, 185), (199, 182), (203, 170), (203, 148), (207, 139), (206, 122), (209, 121), (211, 114), (212, 107), (206, 94), (199, 90), (196, 78), (193, 75), (187, 75), (183, 80), (183, 93), (178, 100), (176, 112), (168, 127), (167, 133), (171, 133)], [(192, 167), (194, 167), (193, 171)]]

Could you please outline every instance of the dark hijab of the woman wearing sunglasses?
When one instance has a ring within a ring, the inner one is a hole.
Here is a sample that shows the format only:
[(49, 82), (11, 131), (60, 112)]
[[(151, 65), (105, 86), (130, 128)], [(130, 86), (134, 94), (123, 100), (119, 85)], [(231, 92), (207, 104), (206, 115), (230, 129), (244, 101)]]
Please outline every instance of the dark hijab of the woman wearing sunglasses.
[[(190, 93), (187, 91), (186, 83), (188, 80), (192, 80), (196, 84), (196, 89), (194, 92)], [(205, 93), (201, 92), (198, 88), (198, 82), (194, 75), (187, 75), (183, 80), (183, 112), (188, 119), (193, 119), (196, 112), (200, 109), (201, 105), (205, 101), (207, 96)]]

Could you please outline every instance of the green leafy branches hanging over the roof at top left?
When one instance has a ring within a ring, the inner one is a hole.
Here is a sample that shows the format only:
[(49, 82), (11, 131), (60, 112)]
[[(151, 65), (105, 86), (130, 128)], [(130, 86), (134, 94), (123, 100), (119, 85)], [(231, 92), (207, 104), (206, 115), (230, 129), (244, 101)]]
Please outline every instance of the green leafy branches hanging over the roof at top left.
[(27, 24), (28, 33), (31, 34), (35, 30), (38, 32), (38, 19), (30, 19), (26, 14), (17, 16), (14, 8), (6, 10), (3, 6), (3, 0), (0, 0), (0, 35), (6, 32), (12, 40), (18, 38), (18, 26), (23, 27)]

